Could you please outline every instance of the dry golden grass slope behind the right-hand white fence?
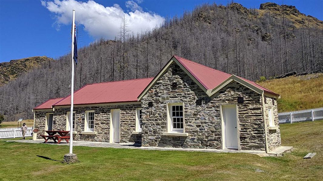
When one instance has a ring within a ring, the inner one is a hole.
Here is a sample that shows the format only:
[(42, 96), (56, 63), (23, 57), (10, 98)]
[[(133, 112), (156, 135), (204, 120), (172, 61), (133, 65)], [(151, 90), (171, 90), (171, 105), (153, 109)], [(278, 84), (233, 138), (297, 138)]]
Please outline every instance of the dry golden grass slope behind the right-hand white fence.
[(267, 80), (259, 84), (281, 95), (278, 112), (323, 107), (323, 73)]

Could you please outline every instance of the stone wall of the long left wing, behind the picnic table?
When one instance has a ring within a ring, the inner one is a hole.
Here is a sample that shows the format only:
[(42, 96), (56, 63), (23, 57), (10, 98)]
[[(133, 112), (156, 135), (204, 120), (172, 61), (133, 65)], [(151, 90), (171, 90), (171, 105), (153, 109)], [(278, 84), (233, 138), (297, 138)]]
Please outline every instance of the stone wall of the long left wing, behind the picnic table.
[[(78, 141), (99, 141), (109, 142), (110, 138), (110, 111), (111, 109), (120, 109), (120, 142), (136, 142), (141, 143), (140, 134), (132, 134), (135, 131), (136, 124), (136, 108), (141, 104), (119, 104), (105, 106), (75, 106), (75, 131), (74, 140)], [(94, 131), (97, 134), (82, 134), (84, 131), (85, 111), (95, 111)], [(56, 108), (53, 112), (53, 130), (66, 130), (67, 112), (70, 108)], [(36, 111), (35, 128), (43, 134), (46, 123), (46, 113)], [(38, 133), (39, 135), (39, 133)]]

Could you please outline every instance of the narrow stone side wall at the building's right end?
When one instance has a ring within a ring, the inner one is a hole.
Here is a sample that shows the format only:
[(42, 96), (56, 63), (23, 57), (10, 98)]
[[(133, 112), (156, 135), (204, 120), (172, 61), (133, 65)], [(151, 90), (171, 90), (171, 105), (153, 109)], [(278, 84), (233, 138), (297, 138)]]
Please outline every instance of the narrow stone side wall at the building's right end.
[[(268, 149), (272, 150), (276, 147), (281, 146), (281, 138), (280, 138), (280, 129), (279, 129), (279, 121), (278, 121), (278, 110), (277, 110), (277, 100), (275, 98), (264, 96), (266, 99), (265, 103), (265, 119), (266, 119), (266, 126), (267, 126), (267, 142), (268, 142)], [(277, 130), (270, 130), (269, 129), (269, 114), (268, 109), (272, 109), (274, 115), (274, 122), (275, 126), (278, 126)]]

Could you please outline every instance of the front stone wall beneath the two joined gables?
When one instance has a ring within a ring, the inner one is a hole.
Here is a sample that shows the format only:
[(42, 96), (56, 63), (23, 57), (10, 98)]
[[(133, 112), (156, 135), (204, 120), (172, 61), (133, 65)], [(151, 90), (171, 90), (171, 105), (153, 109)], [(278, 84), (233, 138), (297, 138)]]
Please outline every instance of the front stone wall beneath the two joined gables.
[[(172, 83), (177, 87), (172, 88)], [(142, 146), (222, 149), (221, 105), (238, 104), (239, 149), (265, 150), (261, 96), (231, 82), (211, 98), (175, 63), (141, 99)], [(196, 100), (202, 105), (197, 106)], [(149, 107), (148, 103), (153, 106)], [(167, 104), (184, 104), (184, 130), (188, 136), (163, 136), (167, 132)]]

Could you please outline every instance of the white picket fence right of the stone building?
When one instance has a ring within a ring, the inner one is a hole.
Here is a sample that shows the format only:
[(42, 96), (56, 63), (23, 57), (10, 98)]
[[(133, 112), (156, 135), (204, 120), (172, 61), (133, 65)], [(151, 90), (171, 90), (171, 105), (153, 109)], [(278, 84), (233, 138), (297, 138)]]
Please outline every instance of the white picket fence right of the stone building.
[(278, 113), (279, 124), (315, 121), (321, 119), (323, 119), (323, 107), (301, 111)]

